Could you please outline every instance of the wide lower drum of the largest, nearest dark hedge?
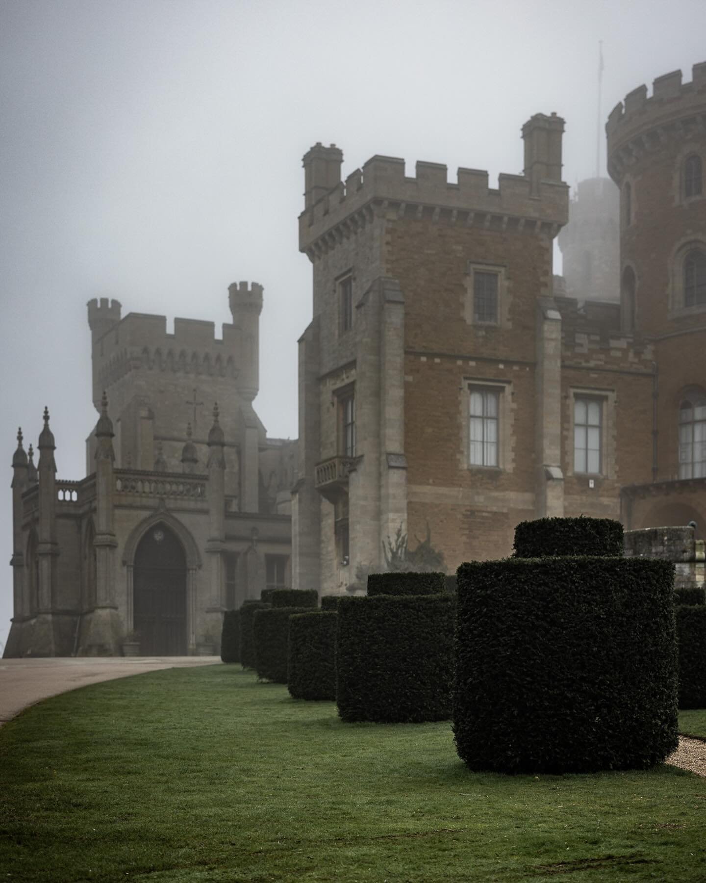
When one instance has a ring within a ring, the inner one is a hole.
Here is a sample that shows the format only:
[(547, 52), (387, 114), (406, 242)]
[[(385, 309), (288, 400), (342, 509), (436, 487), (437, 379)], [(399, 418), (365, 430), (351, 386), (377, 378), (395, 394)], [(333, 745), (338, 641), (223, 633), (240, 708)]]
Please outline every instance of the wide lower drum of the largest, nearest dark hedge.
[(670, 562), (458, 569), (454, 736), (474, 770), (643, 768), (677, 745)]

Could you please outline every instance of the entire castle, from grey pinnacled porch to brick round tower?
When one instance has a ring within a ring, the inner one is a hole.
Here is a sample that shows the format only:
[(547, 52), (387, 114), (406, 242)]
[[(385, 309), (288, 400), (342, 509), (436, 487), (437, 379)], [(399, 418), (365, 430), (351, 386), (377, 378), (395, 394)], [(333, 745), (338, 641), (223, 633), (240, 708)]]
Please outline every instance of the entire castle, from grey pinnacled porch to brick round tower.
[(47, 413), (37, 467), (21, 434), (13, 457), (5, 655), (119, 653), (133, 631), (143, 653), (213, 650), (266, 585), (357, 591), (400, 528), (431, 530), (449, 571), (534, 517), (702, 537), (705, 118), (706, 63), (635, 89), (606, 125), (614, 183), (573, 200), (556, 114), (522, 126), (523, 174), (497, 189), (389, 156), (343, 181), (342, 151), (312, 147), (298, 444), (252, 407), (259, 285), (230, 286), (221, 340), (92, 301), (86, 479), (56, 479)]

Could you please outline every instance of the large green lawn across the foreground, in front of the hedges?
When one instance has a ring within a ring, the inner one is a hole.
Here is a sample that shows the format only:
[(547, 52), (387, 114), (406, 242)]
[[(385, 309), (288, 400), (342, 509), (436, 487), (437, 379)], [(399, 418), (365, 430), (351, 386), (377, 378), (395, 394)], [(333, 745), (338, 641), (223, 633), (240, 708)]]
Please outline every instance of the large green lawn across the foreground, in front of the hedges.
[(29, 709), (0, 795), (9, 880), (706, 879), (702, 778), (471, 774), (447, 723), (342, 724), (239, 666)]

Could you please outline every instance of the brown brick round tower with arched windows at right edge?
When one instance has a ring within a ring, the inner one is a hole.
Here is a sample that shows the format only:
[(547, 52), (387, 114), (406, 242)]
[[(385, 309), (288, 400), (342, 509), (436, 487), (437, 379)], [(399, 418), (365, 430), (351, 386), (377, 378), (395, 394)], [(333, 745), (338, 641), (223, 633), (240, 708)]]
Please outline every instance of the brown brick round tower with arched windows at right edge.
[(612, 110), (620, 188), (623, 328), (652, 344), (654, 477), (706, 479), (706, 62), (641, 86)]

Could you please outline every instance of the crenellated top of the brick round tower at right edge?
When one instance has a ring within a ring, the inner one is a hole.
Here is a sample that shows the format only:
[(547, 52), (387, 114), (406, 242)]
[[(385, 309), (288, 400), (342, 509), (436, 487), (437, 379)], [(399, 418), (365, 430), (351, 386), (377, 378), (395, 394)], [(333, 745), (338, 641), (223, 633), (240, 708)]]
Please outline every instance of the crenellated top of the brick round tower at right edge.
[(690, 82), (682, 82), (681, 71), (665, 73), (652, 82), (652, 94), (640, 86), (625, 96), (612, 109), (605, 124), (608, 137), (608, 165), (615, 177), (616, 154), (630, 142), (652, 130), (660, 130), (660, 138), (670, 127), (683, 136), (683, 121), (694, 118), (697, 126), (706, 117), (706, 62), (694, 64)]

